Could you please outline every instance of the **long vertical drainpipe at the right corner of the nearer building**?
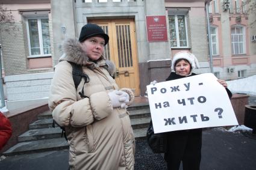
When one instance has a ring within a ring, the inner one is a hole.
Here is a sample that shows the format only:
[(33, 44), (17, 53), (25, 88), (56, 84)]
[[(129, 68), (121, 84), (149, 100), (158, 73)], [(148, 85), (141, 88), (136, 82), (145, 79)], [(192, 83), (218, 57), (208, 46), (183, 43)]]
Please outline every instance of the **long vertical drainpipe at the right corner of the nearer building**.
[(210, 71), (213, 73), (213, 54), (211, 53), (211, 32), (210, 32), (210, 20), (209, 20), (209, 4), (211, 0), (207, 1), (206, 7), (206, 19), (207, 19), (207, 33), (208, 33), (208, 49), (210, 58)]

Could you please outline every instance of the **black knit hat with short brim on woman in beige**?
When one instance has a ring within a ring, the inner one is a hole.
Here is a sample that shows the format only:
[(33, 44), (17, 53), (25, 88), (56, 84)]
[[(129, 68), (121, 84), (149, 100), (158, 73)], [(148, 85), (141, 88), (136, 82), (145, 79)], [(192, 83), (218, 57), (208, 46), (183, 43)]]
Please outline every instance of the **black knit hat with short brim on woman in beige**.
[[(108, 40), (109, 40), (108, 35), (105, 34), (103, 29), (99, 25), (96, 25), (93, 23), (87, 23), (86, 25), (84, 25), (82, 27), (80, 36), (79, 36), (79, 41), (83, 42), (87, 38), (95, 37), (95, 35), (101, 35), (105, 40), (105, 44), (108, 43)], [(105, 44), (104, 44), (104, 46), (105, 46)]]

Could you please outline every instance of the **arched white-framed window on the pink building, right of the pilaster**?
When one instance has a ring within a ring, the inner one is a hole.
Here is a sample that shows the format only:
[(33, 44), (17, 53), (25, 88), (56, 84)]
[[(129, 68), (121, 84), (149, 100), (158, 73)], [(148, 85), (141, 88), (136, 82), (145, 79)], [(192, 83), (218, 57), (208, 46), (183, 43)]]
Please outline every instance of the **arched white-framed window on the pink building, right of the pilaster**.
[(231, 47), (234, 55), (245, 53), (245, 29), (243, 26), (231, 27)]

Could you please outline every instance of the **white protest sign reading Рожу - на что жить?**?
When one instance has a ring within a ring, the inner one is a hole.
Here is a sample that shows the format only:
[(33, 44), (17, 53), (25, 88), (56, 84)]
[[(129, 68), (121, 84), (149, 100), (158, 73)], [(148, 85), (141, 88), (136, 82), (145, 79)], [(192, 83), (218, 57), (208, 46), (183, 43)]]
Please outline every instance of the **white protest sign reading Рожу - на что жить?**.
[(225, 88), (212, 73), (148, 85), (155, 133), (237, 125)]

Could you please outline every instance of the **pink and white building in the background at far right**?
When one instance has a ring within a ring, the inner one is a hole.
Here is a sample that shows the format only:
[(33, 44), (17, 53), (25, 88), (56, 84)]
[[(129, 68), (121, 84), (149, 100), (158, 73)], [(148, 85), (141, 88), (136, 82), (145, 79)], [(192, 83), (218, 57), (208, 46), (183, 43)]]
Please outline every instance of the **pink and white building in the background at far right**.
[(233, 80), (256, 74), (255, 1), (210, 2), (213, 71)]

